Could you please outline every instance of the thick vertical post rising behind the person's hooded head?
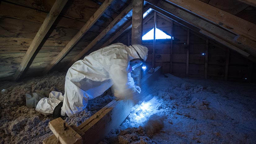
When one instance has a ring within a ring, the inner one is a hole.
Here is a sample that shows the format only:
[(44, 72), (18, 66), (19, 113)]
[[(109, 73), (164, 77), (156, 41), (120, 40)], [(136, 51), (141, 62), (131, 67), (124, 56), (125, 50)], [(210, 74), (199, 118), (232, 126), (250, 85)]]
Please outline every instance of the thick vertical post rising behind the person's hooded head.
[[(144, 0), (132, 0), (132, 45), (142, 43), (143, 4)], [(140, 85), (141, 67), (136, 68), (134, 72), (138, 75), (134, 79), (137, 85)]]

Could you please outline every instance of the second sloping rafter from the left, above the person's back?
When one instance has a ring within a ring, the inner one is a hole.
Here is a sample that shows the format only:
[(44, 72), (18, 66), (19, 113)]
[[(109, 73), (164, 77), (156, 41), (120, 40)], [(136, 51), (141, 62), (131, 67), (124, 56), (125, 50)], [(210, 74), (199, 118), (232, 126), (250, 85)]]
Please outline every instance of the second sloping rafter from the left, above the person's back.
[(106, 0), (98, 8), (98, 10), (92, 15), (92, 17), (84, 24), (84, 26), (79, 30), (79, 32), (70, 40), (70, 42), (65, 46), (63, 50), (55, 57), (55, 59), (48, 65), (43, 73), (48, 73), (50, 70), (61, 61), (61, 59), (72, 49), (72, 47), (83, 37), (83, 35), (92, 27), (93, 24), (101, 17), (101, 15), (106, 11), (109, 5), (114, 0)]

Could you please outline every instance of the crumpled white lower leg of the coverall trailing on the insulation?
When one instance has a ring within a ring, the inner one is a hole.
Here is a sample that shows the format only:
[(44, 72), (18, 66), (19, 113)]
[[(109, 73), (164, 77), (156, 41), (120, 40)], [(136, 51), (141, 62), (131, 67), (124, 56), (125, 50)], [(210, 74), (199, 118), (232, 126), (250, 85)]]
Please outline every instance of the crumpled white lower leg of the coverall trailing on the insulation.
[[(43, 115), (49, 115), (52, 114), (54, 111), (54, 108), (60, 103), (63, 102), (64, 96), (61, 92), (52, 91), (49, 94), (49, 98), (42, 98), (37, 106), (36, 111), (40, 112)], [(61, 115), (65, 115), (65, 111), (61, 111)]]

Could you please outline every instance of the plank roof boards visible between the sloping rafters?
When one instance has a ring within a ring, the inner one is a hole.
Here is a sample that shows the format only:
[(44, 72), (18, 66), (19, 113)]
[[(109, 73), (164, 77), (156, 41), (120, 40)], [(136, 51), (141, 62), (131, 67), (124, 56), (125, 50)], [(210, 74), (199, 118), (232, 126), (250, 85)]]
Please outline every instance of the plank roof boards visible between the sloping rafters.
[[(256, 8), (238, 0), (200, 0), (232, 15), (256, 24)], [(41, 42), (23, 76), (41, 74), (66, 44), (83, 27), (102, 5), (104, 0), (70, 0)], [(0, 78), (12, 79), (38, 29), (51, 10), (55, 0), (3, 0), (0, 5)], [(88, 46), (131, 3), (131, 0), (114, 0), (85, 35), (57, 63), (52, 70), (62, 70)], [(145, 2), (146, 4), (146, 2)], [(149, 5), (149, 4), (148, 4)], [(194, 15), (194, 14), (193, 14)], [(197, 15), (198, 17), (198, 15)], [(129, 11), (85, 55), (101, 48), (132, 19)], [(129, 27), (131, 28), (131, 27)], [(127, 33), (129, 28), (126, 30)], [(82, 58), (82, 57), (81, 57)]]

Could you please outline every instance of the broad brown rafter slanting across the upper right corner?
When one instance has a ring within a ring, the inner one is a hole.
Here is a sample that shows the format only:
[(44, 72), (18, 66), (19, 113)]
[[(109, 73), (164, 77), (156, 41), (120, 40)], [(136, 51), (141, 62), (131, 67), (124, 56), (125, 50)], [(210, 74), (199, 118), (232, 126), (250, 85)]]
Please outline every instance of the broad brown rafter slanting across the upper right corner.
[(237, 35), (256, 41), (256, 25), (200, 0), (167, 0)]

